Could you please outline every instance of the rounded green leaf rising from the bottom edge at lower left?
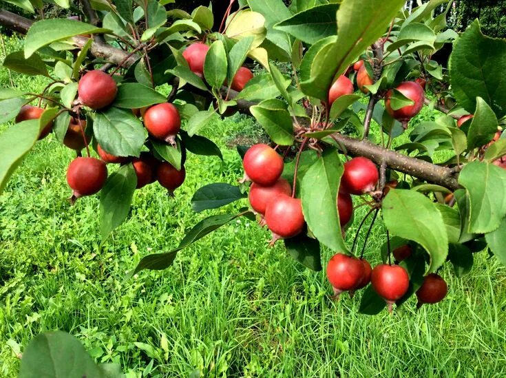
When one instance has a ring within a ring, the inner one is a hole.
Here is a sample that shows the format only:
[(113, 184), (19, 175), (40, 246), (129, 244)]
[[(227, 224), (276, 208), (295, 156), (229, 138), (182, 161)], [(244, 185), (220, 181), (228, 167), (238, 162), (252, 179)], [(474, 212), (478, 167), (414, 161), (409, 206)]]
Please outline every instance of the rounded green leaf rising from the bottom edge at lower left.
[(104, 377), (83, 344), (56, 330), (35, 337), (23, 353), (19, 378)]

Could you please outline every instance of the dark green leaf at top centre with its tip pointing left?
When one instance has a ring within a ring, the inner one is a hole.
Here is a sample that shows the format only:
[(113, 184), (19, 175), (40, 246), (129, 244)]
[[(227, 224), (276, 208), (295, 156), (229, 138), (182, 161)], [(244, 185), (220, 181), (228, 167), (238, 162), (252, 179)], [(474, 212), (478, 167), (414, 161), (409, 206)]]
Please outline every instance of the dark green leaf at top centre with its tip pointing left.
[(337, 34), (336, 12), (339, 4), (324, 4), (299, 12), (276, 23), (275, 30), (282, 30), (312, 45), (320, 39)]

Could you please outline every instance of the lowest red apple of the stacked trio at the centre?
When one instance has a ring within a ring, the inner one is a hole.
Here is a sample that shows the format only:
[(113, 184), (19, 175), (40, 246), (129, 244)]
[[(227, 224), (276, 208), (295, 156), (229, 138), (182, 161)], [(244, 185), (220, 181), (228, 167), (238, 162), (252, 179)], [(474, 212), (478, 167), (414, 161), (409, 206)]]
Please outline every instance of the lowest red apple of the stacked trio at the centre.
[(306, 223), (301, 200), (285, 194), (276, 196), (267, 204), (265, 221), (273, 233), (271, 244), (280, 238), (292, 238), (299, 234)]

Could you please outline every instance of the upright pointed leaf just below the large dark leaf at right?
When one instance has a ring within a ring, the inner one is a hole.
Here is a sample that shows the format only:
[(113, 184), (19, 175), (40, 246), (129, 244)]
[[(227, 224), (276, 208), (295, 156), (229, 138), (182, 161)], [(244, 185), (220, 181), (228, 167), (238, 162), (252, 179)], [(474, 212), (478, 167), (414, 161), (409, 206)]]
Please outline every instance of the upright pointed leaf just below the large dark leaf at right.
[(467, 132), (467, 149), (471, 150), (489, 143), (497, 132), (498, 121), (492, 108), (483, 101), (483, 98), (476, 98), (476, 112)]

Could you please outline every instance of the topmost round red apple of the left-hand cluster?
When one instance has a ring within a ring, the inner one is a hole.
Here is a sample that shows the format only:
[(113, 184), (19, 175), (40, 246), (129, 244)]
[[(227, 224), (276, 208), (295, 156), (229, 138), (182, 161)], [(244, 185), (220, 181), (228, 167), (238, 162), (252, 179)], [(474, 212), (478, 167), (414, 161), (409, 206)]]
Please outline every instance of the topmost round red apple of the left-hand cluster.
[(111, 76), (103, 71), (94, 70), (87, 72), (79, 80), (77, 92), (78, 99), (83, 105), (97, 110), (112, 104), (118, 86)]

